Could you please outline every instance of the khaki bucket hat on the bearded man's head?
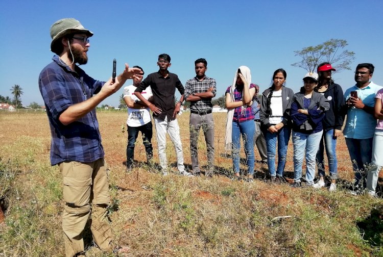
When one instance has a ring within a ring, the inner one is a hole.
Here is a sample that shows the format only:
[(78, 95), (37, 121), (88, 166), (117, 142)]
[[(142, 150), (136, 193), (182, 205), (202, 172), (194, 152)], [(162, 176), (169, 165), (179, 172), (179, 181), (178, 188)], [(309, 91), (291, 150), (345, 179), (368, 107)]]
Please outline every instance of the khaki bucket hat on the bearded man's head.
[(50, 32), (52, 38), (51, 51), (54, 53), (56, 53), (57, 50), (57, 40), (63, 36), (73, 33), (85, 33), (88, 37), (93, 36), (93, 32), (85, 29), (84, 26), (81, 25), (80, 21), (74, 18), (65, 18), (56, 21), (51, 26)]

